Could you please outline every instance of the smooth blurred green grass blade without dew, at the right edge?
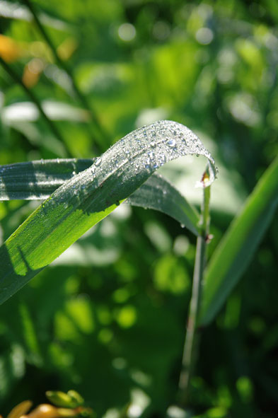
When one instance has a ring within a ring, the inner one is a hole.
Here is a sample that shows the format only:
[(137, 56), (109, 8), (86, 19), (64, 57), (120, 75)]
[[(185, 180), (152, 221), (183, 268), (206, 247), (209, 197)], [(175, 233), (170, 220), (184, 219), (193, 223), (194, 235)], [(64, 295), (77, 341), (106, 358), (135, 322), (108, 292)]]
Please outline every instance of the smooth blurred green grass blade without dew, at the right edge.
[(278, 158), (266, 170), (214, 252), (204, 276), (199, 324), (209, 323), (248, 267), (278, 204)]

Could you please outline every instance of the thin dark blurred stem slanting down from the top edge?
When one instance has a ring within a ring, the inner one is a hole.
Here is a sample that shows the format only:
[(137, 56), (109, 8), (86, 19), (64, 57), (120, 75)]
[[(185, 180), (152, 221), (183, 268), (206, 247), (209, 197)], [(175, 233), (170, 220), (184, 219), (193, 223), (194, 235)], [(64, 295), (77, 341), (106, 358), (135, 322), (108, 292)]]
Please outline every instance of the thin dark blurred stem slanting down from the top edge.
[[(100, 124), (100, 121), (98, 119), (98, 115), (96, 114), (95, 110), (93, 109), (93, 106), (88, 103), (88, 100), (83, 93), (79, 90), (79, 87), (76, 84), (76, 81), (74, 79), (74, 76), (71, 74), (71, 71), (69, 70), (68, 66), (66, 66), (66, 63), (59, 57), (59, 54), (57, 54), (57, 50), (54, 47), (54, 44), (52, 43), (52, 40), (50, 39), (49, 35), (47, 35), (47, 32), (45, 31), (45, 28), (43, 27), (42, 23), (40, 22), (40, 19), (37, 16), (37, 13), (35, 11), (35, 8), (31, 1), (29, 0), (23, 0), (23, 3), (29, 8), (30, 12), (33, 15), (34, 21), (37, 25), (37, 28), (40, 30), (40, 33), (42, 34), (42, 37), (45, 38), (45, 42), (47, 42), (47, 45), (50, 47), (50, 50), (52, 51), (53, 57), (56, 60), (56, 62), (61, 66), (62, 69), (68, 74), (69, 78), (71, 79), (71, 85), (74, 89), (74, 93), (79, 98), (79, 101), (83, 105), (88, 112), (90, 112), (91, 119), (93, 121), (93, 124), (95, 125), (95, 128), (98, 131), (98, 134), (100, 134), (100, 137), (104, 139), (105, 141), (108, 140), (108, 134), (105, 132), (105, 129)], [(98, 141), (98, 146), (100, 146), (100, 151), (104, 151), (105, 146), (103, 146), (103, 141), (98, 137), (98, 135), (95, 137), (95, 139)], [(106, 144), (107, 145), (107, 144)]]

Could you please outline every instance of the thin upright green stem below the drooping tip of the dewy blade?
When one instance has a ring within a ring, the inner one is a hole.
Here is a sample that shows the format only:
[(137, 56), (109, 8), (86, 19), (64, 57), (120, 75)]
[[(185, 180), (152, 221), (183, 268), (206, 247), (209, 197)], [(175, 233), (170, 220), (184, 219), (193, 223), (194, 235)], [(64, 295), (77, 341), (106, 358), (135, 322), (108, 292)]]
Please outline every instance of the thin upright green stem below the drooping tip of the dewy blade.
[[(204, 173), (202, 178), (202, 183), (204, 186), (206, 178), (207, 173)], [(180, 372), (179, 381), (180, 403), (183, 406), (187, 404), (188, 392), (190, 388), (190, 378), (192, 375), (192, 368), (195, 363), (195, 348), (197, 345), (197, 318), (199, 313), (199, 305), (201, 301), (202, 278), (206, 260), (206, 245), (209, 231), (209, 197), (210, 186), (204, 187), (203, 202), (201, 208), (201, 224), (199, 227), (199, 234), (197, 237), (197, 248), (195, 255), (192, 296), (190, 300), (189, 315), (187, 319), (187, 331), (185, 336), (182, 369)]]

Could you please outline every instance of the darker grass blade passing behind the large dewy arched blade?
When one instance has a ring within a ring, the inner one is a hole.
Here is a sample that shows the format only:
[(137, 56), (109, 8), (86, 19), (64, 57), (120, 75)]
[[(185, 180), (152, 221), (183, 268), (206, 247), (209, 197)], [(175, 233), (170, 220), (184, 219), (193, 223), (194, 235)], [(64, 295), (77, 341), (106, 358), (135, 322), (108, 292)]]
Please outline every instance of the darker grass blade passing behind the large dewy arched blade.
[[(66, 180), (90, 167), (93, 161), (95, 158), (71, 158), (2, 166), (0, 200), (47, 199)], [(199, 216), (196, 209), (161, 175), (151, 175), (125, 203), (168, 214), (197, 235)]]

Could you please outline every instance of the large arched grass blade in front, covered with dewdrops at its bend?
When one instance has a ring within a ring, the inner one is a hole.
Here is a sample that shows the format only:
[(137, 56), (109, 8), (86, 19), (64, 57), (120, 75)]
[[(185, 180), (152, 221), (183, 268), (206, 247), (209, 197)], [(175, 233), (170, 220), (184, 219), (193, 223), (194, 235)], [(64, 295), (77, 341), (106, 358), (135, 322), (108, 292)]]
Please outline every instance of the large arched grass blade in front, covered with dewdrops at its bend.
[(158, 167), (195, 153), (207, 157), (211, 183), (214, 160), (182, 124), (155, 122), (117, 141), (91, 167), (55, 190), (1, 246), (0, 301), (16, 293), (110, 214)]

